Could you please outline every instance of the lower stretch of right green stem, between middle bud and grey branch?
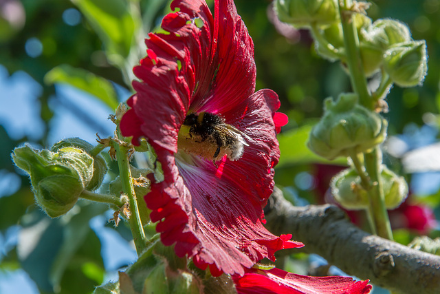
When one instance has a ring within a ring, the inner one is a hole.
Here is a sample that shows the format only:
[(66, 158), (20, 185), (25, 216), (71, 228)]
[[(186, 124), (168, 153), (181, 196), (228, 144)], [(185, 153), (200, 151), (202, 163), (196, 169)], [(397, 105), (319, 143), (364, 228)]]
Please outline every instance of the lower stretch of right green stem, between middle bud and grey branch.
[(365, 169), (373, 183), (369, 190), (370, 208), (373, 215), (374, 227), (377, 235), (393, 240), (393, 232), (391, 231), (390, 220), (388, 218), (388, 211), (385, 207), (384, 189), (382, 188), (382, 180), (380, 178), (380, 158), (382, 158), (379, 147), (375, 147), (373, 151), (364, 154)]

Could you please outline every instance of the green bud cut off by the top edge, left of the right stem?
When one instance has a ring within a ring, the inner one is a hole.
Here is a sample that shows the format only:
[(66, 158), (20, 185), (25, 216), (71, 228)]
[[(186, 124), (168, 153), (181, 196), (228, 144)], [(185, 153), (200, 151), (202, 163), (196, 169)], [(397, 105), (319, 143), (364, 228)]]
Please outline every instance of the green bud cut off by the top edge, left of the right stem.
[(335, 23), (339, 18), (336, 0), (276, 0), (278, 18), (297, 28), (312, 23), (322, 26)]

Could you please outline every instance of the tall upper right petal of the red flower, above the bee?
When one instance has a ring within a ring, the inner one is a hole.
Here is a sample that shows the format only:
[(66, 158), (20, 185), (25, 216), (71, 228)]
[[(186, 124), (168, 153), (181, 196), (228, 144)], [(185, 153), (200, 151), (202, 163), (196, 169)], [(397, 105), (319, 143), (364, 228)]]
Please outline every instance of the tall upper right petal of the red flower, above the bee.
[[(255, 90), (254, 43), (237, 14), (234, 1), (215, 1), (214, 56), (210, 67), (217, 70), (214, 80), (195, 95), (194, 112), (213, 113), (233, 109)], [(217, 30), (218, 29), (218, 30)], [(217, 111), (216, 111), (217, 109)]]

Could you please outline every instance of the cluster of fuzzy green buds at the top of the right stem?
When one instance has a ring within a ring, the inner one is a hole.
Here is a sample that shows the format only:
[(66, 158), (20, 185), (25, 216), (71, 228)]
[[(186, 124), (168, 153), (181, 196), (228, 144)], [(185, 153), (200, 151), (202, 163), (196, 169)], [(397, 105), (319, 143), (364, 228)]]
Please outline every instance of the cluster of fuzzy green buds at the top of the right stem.
[[(368, 7), (368, 6), (365, 6)], [(276, 0), (281, 21), (297, 28), (314, 28), (316, 52), (344, 62), (344, 37), (337, 0)], [(366, 76), (384, 70), (400, 87), (421, 84), (427, 72), (426, 42), (411, 38), (408, 26), (393, 19), (371, 19), (353, 11), (360, 56)]]

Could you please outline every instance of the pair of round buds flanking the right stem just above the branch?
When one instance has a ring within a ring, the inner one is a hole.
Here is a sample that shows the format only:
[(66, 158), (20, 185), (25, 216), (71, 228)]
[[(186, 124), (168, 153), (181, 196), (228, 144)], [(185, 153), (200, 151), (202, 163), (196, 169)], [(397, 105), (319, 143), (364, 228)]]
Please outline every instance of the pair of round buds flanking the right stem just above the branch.
[[(386, 209), (395, 209), (408, 196), (406, 180), (382, 165), (380, 174)], [(353, 168), (344, 169), (331, 180), (331, 195), (344, 209), (369, 207), (368, 192), (362, 187), (360, 176)]]

